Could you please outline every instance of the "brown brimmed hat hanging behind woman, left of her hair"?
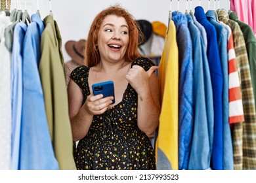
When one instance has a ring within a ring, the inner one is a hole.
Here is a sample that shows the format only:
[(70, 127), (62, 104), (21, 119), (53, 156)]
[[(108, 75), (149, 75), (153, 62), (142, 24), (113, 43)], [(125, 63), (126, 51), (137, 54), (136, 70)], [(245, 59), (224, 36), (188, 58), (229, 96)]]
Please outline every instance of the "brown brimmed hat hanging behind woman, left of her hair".
[(72, 60), (83, 65), (85, 59), (85, 39), (80, 39), (79, 41), (67, 41), (65, 44), (65, 49)]

